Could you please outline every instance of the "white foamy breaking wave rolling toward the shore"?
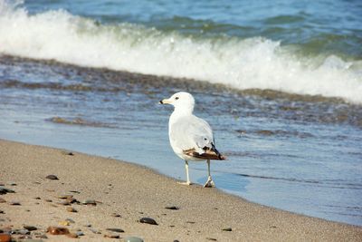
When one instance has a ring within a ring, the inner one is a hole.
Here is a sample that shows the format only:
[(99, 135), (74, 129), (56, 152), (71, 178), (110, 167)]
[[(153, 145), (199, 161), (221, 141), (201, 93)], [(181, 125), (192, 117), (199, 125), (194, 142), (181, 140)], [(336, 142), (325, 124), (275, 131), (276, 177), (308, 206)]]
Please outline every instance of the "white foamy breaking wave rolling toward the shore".
[(187, 38), (135, 24), (99, 25), (62, 10), (29, 15), (4, 0), (0, 53), (362, 103), (361, 62), (301, 58), (262, 38)]

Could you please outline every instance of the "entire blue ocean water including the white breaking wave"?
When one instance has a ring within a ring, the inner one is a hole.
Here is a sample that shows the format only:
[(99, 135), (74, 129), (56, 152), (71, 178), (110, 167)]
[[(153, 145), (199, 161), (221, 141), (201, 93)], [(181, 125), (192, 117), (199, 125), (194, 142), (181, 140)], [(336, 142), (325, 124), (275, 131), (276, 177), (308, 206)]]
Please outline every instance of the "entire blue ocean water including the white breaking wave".
[[(0, 0), (0, 139), (185, 179), (178, 91), (214, 129), (219, 189), (362, 226), (361, 1)], [(31, 163), (30, 163), (31, 165)], [(204, 162), (190, 163), (205, 182)]]

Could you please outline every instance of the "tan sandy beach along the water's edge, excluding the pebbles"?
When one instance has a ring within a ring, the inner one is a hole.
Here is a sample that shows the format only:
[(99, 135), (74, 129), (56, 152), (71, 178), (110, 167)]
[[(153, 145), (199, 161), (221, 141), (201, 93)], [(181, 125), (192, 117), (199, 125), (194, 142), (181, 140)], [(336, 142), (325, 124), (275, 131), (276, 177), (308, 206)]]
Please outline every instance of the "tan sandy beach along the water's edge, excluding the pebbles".
[[(127, 162), (73, 154), (0, 140), (0, 183), (15, 191), (0, 195), (5, 199), (0, 203), (0, 229), (31, 225), (37, 227), (31, 234), (36, 238), (35, 233), (71, 218), (74, 223), (64, 227), (80, 229), (84, 236), (47, 233), (44, 241), (122, 241), (104, 237), (109, 227), (124, 229), (116, 233), (119, 237), (145, 241), (362, 241), (362, 227), (268, 208), (218, 189), (178, 185), (175, 179)], [(50, 174), (59, 179), (45, 179)], [(58, 204), (64, 194), (79, 201), (94, 199), (97, 206)], [(12, 201), (21, 205), (10, 205)], [(67, 211), (69, 207), (78, 212)], [(158, 225), (139, 223), (143, 217), (154, 218)], [(232, 231), (223, 230), (228, 227)]]

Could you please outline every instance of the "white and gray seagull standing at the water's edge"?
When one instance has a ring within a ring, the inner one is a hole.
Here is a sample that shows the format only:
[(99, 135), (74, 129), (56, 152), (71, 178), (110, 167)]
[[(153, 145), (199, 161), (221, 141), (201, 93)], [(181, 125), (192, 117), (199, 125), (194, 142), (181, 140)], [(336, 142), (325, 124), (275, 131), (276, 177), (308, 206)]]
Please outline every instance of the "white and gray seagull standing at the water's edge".
[(185, 160), (186, 182), (191, 185), (188, 176), (188, 161), (207, 161), (208, 178), (205, 188), (213, 188), (214, 181), (210, 174), (210, 160), (225, 160), (216, 150), (213, 130), (207, 121), (193, 114), (195, 99), (188, 92), (176, 92), (170, 98), (161, 100), (161, 104), (175, 107), (168, 121), (168, 137), (172, 150), (178, 157)]

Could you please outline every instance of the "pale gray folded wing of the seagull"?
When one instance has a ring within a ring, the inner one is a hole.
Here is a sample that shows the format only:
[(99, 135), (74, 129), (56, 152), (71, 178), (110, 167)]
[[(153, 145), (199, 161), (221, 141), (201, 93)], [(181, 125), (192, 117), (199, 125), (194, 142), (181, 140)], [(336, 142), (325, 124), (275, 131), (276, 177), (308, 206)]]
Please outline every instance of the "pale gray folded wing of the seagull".
[(205, 147), (213, 147), (214, 136), (210, 125), (195, 115), (179, 119), (170, 128), (170, 139), (179, 149), (195, 149), (201, 154)]

